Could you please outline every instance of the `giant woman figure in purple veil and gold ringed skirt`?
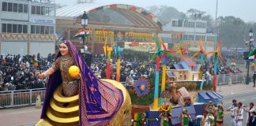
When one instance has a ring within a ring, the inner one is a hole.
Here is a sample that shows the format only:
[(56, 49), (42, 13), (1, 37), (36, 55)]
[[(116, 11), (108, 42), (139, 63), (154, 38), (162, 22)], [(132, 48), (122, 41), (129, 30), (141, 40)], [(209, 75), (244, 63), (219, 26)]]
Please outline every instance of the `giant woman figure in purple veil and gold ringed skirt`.
[[(69, 73), (73, 65), (80, 71), (75, 76)], [(36, 125), (120, 125), (130, 114), (125, 87), (96, 78), (70, 41), (59, 45), (52, 67), (39, 74), (40, 79), (45, 76), (49, 80), (42, 120)]]

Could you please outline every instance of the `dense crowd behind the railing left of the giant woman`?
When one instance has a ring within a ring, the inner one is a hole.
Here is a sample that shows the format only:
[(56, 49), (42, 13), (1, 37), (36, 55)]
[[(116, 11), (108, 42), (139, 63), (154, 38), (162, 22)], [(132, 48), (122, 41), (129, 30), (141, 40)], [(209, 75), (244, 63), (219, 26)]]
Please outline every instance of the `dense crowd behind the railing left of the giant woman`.
[[(36, 57), (36, 56), (35, 56)], [(47, 58), (40, 57), (42, 69), (47, 69), (53, 61), (51, 54)], [(40, 80), (36, 73), (38, 68), (33, 65), (32, 56), (7, 54), (0, 56), (0, 91), (25, 90), (33, 88), (42, 88), (45, 83)]]

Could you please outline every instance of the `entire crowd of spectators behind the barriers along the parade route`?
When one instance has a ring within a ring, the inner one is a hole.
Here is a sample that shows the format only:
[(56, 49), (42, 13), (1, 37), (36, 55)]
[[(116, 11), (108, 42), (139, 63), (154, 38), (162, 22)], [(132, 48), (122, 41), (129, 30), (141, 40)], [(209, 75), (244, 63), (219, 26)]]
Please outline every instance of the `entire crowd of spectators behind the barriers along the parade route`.
[[(33, 65), (31, 60), (32, 57), (36, 57), (38, 61), (40, 61), (40, 70), (46, 70), (51, 67), (52, 62), (55, 59), (55, 54), (48, 54), (47, 57), (40, 57), (40, 54), (37, 54), (36, 56), (26, 55), (23, 57), (12, 54), (0, 56), (0, 91), (45, 87), (44, 80), (40, 80), (36, 76), (36, 73), (39, 72), (39, 67)], [(178, 63), (179, 60), (180, 58), (178, 57), (168, 57), (168, 68), (175, 69), (174, 64)], [(122, 57), (120, 82), (126, 82), (127, 78), (132, 78), (135, 81), (141, 77), (149, 78), (149, 76), (152, 76), (156, 69), (156, 62), (149, 61), (150, 59), (141, 59), (138, 57)], [(92, 56), (90, 69), (92, 69), (92, 72), (94, 72), (97, 77), (106, 78), (106, 67), (107, 61), (104, 54), (96, 54)], [(205, 61), (203, 67), (205, 70), (204, 73), (207, 72), (210, 75), (213, 75), (213, 58), (209, 61)], [(115, 57), (112, 57), (111, 59), (111, 68), (111, 79), (115, 80)], [(235, 73), (241, 73), (241, 71), (238, 68), (227, 66), (223, 61), (218, 62), (217, 74)]]

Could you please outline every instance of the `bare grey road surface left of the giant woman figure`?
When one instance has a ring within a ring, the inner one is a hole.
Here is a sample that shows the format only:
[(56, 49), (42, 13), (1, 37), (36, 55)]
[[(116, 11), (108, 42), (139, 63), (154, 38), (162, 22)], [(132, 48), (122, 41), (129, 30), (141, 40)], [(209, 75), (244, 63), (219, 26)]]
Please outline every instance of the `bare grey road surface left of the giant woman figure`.
[(30, 126), (40, 120), (41, 109), (35, 106), (24, 108), (0, 109), (0, 125)]

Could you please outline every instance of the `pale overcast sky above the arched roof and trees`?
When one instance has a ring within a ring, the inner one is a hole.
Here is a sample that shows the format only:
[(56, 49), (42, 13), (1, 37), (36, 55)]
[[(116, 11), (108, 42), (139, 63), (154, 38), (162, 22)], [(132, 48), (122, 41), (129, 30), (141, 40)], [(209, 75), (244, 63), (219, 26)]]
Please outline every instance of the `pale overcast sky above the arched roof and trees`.
[[(74, 5), (77, 0), (55, 0), (56, 3)], [(205, 11), (215, 18), (216, 0), (96, 0), (96, 3), (124, 3), (143, 8), (149, 6), (172, 6), (186, 13), (194, 8)], [(235, 16), (242, 20), (256, 21), (256, 0), (219, 0), (217, 16)]]

